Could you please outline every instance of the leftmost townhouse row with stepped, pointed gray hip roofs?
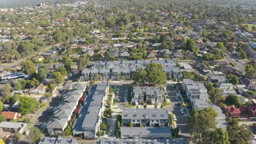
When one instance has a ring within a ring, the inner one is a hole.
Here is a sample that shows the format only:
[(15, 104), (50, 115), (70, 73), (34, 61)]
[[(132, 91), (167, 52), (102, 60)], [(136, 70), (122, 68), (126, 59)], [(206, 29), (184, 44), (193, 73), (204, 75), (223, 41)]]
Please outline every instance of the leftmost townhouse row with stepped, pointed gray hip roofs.
[(86, 84), (79, 83), (67, 94), (62, 95), (63, 103), (54, 108), (53, 118), (45, 124), (50, 135), (61, 135), (77, 108), (79, 99), (85, 95)]

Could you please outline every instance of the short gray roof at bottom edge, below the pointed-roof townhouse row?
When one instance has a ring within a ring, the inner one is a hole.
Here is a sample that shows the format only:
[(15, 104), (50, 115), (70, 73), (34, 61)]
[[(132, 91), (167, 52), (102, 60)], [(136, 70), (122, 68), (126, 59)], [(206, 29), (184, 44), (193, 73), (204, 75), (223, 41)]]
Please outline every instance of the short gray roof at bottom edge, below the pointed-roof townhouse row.
[(77, 144), (77, 139), (66, 137), (43, 137), (38, 144)]

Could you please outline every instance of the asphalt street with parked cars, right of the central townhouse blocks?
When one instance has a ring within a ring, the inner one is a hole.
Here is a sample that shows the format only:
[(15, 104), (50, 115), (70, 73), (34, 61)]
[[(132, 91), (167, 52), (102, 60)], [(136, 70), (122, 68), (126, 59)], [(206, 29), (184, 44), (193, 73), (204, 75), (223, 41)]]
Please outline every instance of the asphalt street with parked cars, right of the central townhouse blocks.
[(181, 113), (181, 107), (178, 105), (178, 100), (175, 99), (176, 94), (174, 92), (174, 88), (172, 85), (167, 85), (167, 97), (171, 100), (171, 106), (168, 107), (168, 112), (174, 113), (176, 115), (176, 127), (181, 129), (181, 138), (189, 138), (191, 135), (189, 134), (189, 128), (187, 125), (186, 118), (184, 114)]

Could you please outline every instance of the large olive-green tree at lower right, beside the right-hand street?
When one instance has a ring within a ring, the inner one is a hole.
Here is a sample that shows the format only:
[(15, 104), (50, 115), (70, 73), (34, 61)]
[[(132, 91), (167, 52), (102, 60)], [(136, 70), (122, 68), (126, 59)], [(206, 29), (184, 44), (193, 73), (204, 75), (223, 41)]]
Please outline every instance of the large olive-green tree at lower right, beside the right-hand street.
[(194, 115), (188, 118), (188, 126), (191, 136), (200, 141), (211, 130), (216, 128), (216, 117), (218, 113), (215, 109), (208, 107), (204, 110), (194, 111)]

